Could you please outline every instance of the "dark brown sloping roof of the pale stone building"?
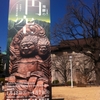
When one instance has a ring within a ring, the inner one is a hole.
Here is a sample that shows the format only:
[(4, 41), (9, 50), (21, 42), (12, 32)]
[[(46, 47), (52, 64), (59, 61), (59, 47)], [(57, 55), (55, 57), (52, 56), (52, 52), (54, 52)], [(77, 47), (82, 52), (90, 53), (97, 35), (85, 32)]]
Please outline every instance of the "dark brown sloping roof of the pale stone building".
[(51, 52), (60, 51), (60, 50), (71, 50), (70, 47), (82, 47), (91, 45), (91, 41), (94, 41), (93, 38), (87, 39), (73, 39), (73, 40), (63, 40), (59, 45), (51, 46)]

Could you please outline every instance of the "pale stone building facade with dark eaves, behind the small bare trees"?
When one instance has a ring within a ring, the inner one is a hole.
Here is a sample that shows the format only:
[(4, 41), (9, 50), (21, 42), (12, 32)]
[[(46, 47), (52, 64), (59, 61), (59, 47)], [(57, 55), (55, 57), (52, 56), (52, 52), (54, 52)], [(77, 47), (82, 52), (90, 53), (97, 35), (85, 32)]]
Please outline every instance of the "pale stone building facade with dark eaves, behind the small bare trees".
[[(71, 65), (69, 56), (72, 56), (71, 59), (72, 69), (70, 68)], [(87, 57), (86, 55), (71, 51), (68, 47), (62, 48), (61, 46), (52, 46), (51, 59), (52, 59), (52, 82), (54, 80), (59, 80), (60, 83), (64, 83), (65, 81), (70, 82), (71, 70), (72, 70), (72, 78), (75, 83), (77, 84), (79, 83), (88, 84), (90, 82), (95, 83), (95, 72), (91, 71), (94, 67), (94, 64), (91, 58)], [(61, 75), (61, 73), (64, 73), (64, 71), (63, 72), (58, 71), (62, 69), (65, 69), (66, 71), (65, 73), (66, 80), (64, 80), (64, 75), (63, 76)]]

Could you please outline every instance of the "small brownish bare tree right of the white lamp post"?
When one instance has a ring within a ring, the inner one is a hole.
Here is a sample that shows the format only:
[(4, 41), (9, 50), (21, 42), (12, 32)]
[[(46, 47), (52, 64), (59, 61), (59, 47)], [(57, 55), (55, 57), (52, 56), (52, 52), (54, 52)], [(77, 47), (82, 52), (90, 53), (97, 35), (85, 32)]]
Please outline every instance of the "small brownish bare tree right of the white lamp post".
[(76, 79), (78, 84), (95, 82), (95, 73), (92, 71), (94, 63), (90, 57), (82, 55), (74, 58), (74, 68), (76, 69)]

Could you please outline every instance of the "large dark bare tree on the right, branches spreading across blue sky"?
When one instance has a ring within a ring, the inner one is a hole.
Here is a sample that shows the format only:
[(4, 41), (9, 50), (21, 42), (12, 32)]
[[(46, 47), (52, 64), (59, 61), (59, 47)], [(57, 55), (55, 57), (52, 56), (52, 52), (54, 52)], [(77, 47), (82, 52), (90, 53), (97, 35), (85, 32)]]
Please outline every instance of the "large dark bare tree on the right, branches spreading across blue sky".
[(90, 4), (69, 0), (66, 15), (55, 25), (52, 36), (60, 46), (91, 57), (100, 85), (100, 0), (91, 0)]

